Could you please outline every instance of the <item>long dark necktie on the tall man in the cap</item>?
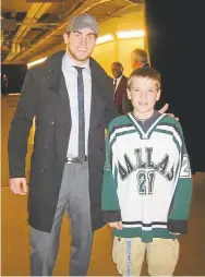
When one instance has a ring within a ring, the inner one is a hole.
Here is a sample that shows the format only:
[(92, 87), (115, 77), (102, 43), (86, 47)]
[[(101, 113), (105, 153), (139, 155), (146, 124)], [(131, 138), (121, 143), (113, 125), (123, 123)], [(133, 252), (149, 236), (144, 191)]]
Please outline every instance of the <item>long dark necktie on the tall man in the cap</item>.
[(79, 160), (85, 160), (85, 116), (84, 116), (84, 84), (83, 68), (74, 67), (77, 71), (77, 100), (79, 100)]

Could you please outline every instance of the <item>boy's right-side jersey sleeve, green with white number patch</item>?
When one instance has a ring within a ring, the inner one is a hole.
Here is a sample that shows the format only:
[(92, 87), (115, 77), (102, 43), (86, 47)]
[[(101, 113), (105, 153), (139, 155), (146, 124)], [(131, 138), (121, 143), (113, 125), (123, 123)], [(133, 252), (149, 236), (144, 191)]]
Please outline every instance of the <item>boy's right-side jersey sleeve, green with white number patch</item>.
[(179, 161), (179, 174), (176, 177), (177, 186), (168, 216), (168, 230), (174, 233), (186, 233), (192, 196), (192, 173), (180, 123), (178, 123), (178, 130), (182, 140), (181, 159)]

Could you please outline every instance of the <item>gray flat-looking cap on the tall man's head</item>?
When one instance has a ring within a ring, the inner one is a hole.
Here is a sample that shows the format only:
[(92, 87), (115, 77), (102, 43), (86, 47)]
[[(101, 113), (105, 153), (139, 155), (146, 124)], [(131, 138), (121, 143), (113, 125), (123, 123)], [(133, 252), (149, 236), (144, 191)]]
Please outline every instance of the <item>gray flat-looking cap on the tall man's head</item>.
[(97, 21), (95, 17), (86, 13), (74, 16), (67, 26), (67, 33), (75, 32), (81, 28), (91, 28), (96, 33), (97, 36), (99, 34)]

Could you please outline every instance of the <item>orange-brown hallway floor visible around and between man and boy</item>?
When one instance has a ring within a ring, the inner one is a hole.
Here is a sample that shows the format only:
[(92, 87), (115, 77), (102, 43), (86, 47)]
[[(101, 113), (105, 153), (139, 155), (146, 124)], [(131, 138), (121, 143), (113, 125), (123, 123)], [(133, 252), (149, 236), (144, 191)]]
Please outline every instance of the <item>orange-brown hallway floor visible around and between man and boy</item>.
[[(29, 228), (26, 224), (27, 196), (13, 195), (8, 186), (7, 140), (11, 118), (16, 107), (17, 96), (2, 98), (1, 130), (1, 276), (29, 275)], [(26, 174), (29, 171), (29, 155), (33, 137), (28, 142)], [(193, 201), (189, 234), (180, 238), (180, 258), (174, 272), (178, 276), (205, 276), (205, 173), (197, 172), (194, 177)], [(70, 251), (69, 221), (63, 220), (61, 244), (53, 272), (55, 276), (68, 275)], [(89, 276), (118, 276), (111, 261), (112, 234), (108, 227), (96, 231), (88, 270)], [(146, 276), (144, 263), (142, 275)]]

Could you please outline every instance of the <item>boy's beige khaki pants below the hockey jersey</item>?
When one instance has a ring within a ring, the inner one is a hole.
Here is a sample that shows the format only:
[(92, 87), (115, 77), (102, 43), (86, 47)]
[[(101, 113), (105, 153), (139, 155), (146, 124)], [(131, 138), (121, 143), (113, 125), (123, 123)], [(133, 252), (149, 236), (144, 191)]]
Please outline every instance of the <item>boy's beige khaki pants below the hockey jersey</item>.
[(114, 237), (112, 258), (121, 275), (140, 276), (145, 253), (149, 275), (171, 276), (179, 257), (179, 241), (155, 238), (144, 243), (141, 238)]

